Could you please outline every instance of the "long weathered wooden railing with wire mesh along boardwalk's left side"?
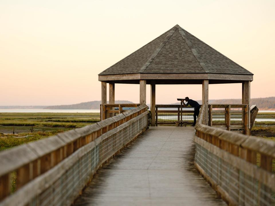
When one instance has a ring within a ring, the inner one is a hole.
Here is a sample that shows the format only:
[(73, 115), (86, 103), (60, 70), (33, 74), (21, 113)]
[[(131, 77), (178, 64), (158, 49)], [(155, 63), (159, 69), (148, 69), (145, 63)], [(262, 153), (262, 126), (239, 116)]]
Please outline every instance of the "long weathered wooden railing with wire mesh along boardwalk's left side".
[(97, 169), (147, 128), (148, 113), (144, 104), (0, 152), (0, 205), (71, 205)]

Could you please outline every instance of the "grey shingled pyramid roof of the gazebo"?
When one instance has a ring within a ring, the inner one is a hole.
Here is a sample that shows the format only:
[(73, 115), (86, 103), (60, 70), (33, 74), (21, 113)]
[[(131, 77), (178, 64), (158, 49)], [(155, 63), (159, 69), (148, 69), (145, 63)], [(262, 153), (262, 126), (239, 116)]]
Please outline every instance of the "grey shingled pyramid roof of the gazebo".
[(175, 25), (99, 75), (137, 73), (253, 75), (179, 25)]

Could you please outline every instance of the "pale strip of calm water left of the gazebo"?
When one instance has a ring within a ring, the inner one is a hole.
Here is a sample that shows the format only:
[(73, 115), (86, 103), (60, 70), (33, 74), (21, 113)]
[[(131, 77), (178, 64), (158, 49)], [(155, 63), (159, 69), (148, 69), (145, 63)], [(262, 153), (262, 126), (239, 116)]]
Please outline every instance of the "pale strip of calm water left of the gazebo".
[(51, 112), (51, 113), (99, 113), (100, 110), (66, 110), (66, 109), (0, 109), (2, 112), (22, 112), (22, 113), (39, 113), (39, 112)]

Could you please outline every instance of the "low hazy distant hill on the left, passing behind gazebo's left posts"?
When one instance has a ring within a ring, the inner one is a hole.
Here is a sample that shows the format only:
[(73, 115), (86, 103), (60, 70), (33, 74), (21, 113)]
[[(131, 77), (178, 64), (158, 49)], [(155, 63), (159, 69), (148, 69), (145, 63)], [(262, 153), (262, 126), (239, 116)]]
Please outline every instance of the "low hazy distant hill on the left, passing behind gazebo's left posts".
[[(109, 101), (107, 101), (109, 103)], [(44, 109), (99, 109), (101, 101), (82, 102), (79, 104), (47, 106)], [(127, 100), (117, 100), (115, 104), (133, 104)]]

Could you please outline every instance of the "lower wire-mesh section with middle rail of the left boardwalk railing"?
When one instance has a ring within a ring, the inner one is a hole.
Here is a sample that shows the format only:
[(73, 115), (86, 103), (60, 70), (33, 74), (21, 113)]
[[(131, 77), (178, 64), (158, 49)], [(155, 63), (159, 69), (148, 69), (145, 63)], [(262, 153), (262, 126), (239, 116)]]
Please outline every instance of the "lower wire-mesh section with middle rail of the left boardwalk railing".
[[(44, 179), (38, 177), (41, 180), (36, 179), (37, 182), (32, 184), (42, 184), (44, 189), (34, 191), (34, 195), (26, 199), (24, 205), (71, 205), (96, 170), (147, 127), (148, 111), (135, 115), (136, 117), (132, 116), (129, 121), (120, 124), (117, 128), (102, 134), (98, 137), (99, 139), (76, 150), (61, 161), (61, 165), (44, 173)], [(52, 177), (55, 179), (52, 180)], [(49, 183), (50, 181), (52, 183)], [(19, 197), (21, 197), (20, 194)], [(18, 200), (14, 199), (14, 201)], [(2, 203), (0, 202), (0, 205)]]

